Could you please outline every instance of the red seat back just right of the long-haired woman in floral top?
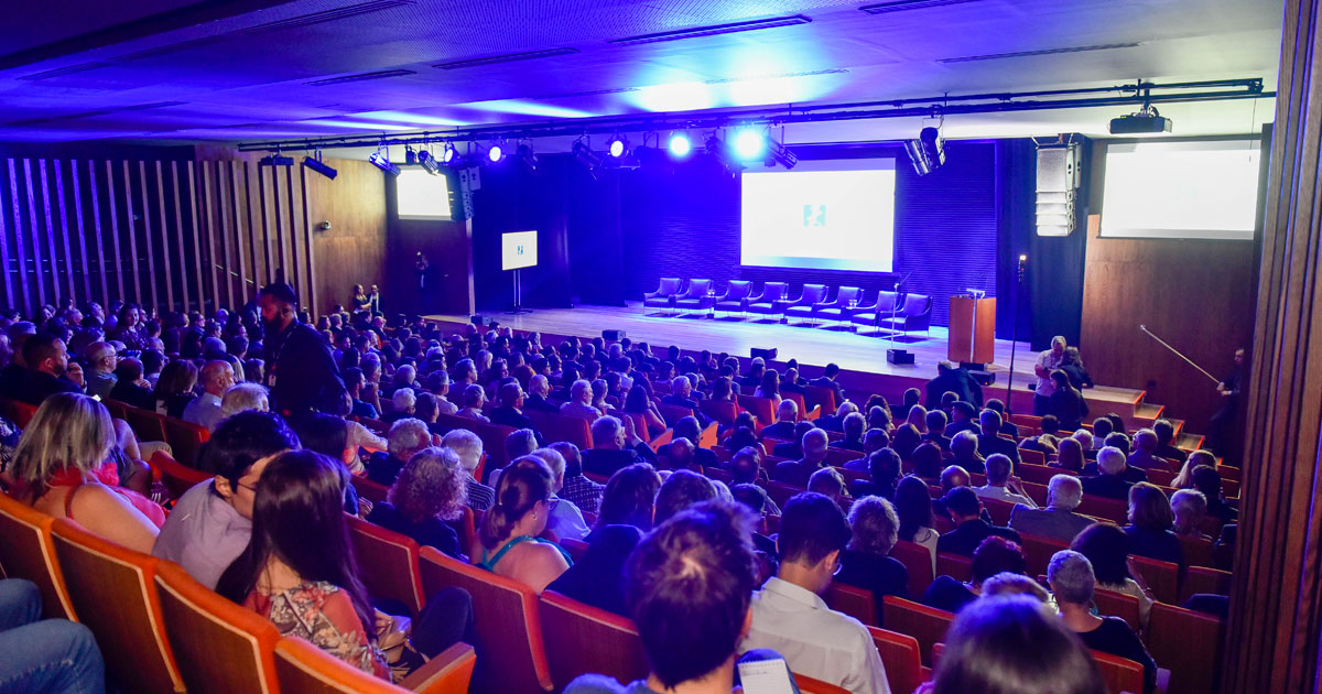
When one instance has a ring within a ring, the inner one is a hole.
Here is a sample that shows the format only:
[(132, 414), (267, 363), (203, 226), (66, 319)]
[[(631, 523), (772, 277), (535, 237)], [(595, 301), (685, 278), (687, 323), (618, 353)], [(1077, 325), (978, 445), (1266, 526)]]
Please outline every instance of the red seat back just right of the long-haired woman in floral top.
[(418, 543), (407, 537), (345, 514), (358, 559), (358, 578), (373, 598), (399, 600), (416, 616), (427, 596), (418, 570)]

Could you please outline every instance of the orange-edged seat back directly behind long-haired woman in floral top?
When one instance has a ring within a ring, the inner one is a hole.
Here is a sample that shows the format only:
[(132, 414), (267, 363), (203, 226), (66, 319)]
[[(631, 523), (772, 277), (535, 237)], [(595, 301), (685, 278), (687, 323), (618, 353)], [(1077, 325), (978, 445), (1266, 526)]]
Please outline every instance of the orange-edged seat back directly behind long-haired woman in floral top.
[(189, 694), (278, 694), (275, 644), (268, 620), (193, 580), (184, 567), (156, 568), (161, 616), (178, 674)]

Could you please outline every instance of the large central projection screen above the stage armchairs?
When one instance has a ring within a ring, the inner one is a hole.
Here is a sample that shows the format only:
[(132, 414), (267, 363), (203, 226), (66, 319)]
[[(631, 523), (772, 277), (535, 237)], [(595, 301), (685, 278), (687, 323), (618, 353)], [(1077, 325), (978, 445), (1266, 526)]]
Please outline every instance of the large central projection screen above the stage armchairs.
[(894, 159), (802, 161), (793, 171), (746, 171), (742, 188), (742, 264), (894, 270)]

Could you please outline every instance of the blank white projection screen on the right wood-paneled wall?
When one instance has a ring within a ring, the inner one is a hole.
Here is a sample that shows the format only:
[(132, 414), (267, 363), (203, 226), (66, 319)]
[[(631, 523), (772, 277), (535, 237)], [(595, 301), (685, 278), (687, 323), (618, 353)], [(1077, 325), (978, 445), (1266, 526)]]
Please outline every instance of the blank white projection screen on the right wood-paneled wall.
[(1108, 145), (1100, 234), (1253, 241), (1259, 160), (1248, 139)]

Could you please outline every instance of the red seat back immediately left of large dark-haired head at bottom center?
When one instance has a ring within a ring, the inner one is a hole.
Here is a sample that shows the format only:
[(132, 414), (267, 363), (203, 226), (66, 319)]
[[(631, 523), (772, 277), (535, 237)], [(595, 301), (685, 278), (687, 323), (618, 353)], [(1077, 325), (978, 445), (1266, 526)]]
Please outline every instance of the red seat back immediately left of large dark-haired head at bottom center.
[(596, 673), (632, 682), (648, 675), (642, 638), (632, 620), (554, 591), (538, 599), (546, 661), (557, 687)]

